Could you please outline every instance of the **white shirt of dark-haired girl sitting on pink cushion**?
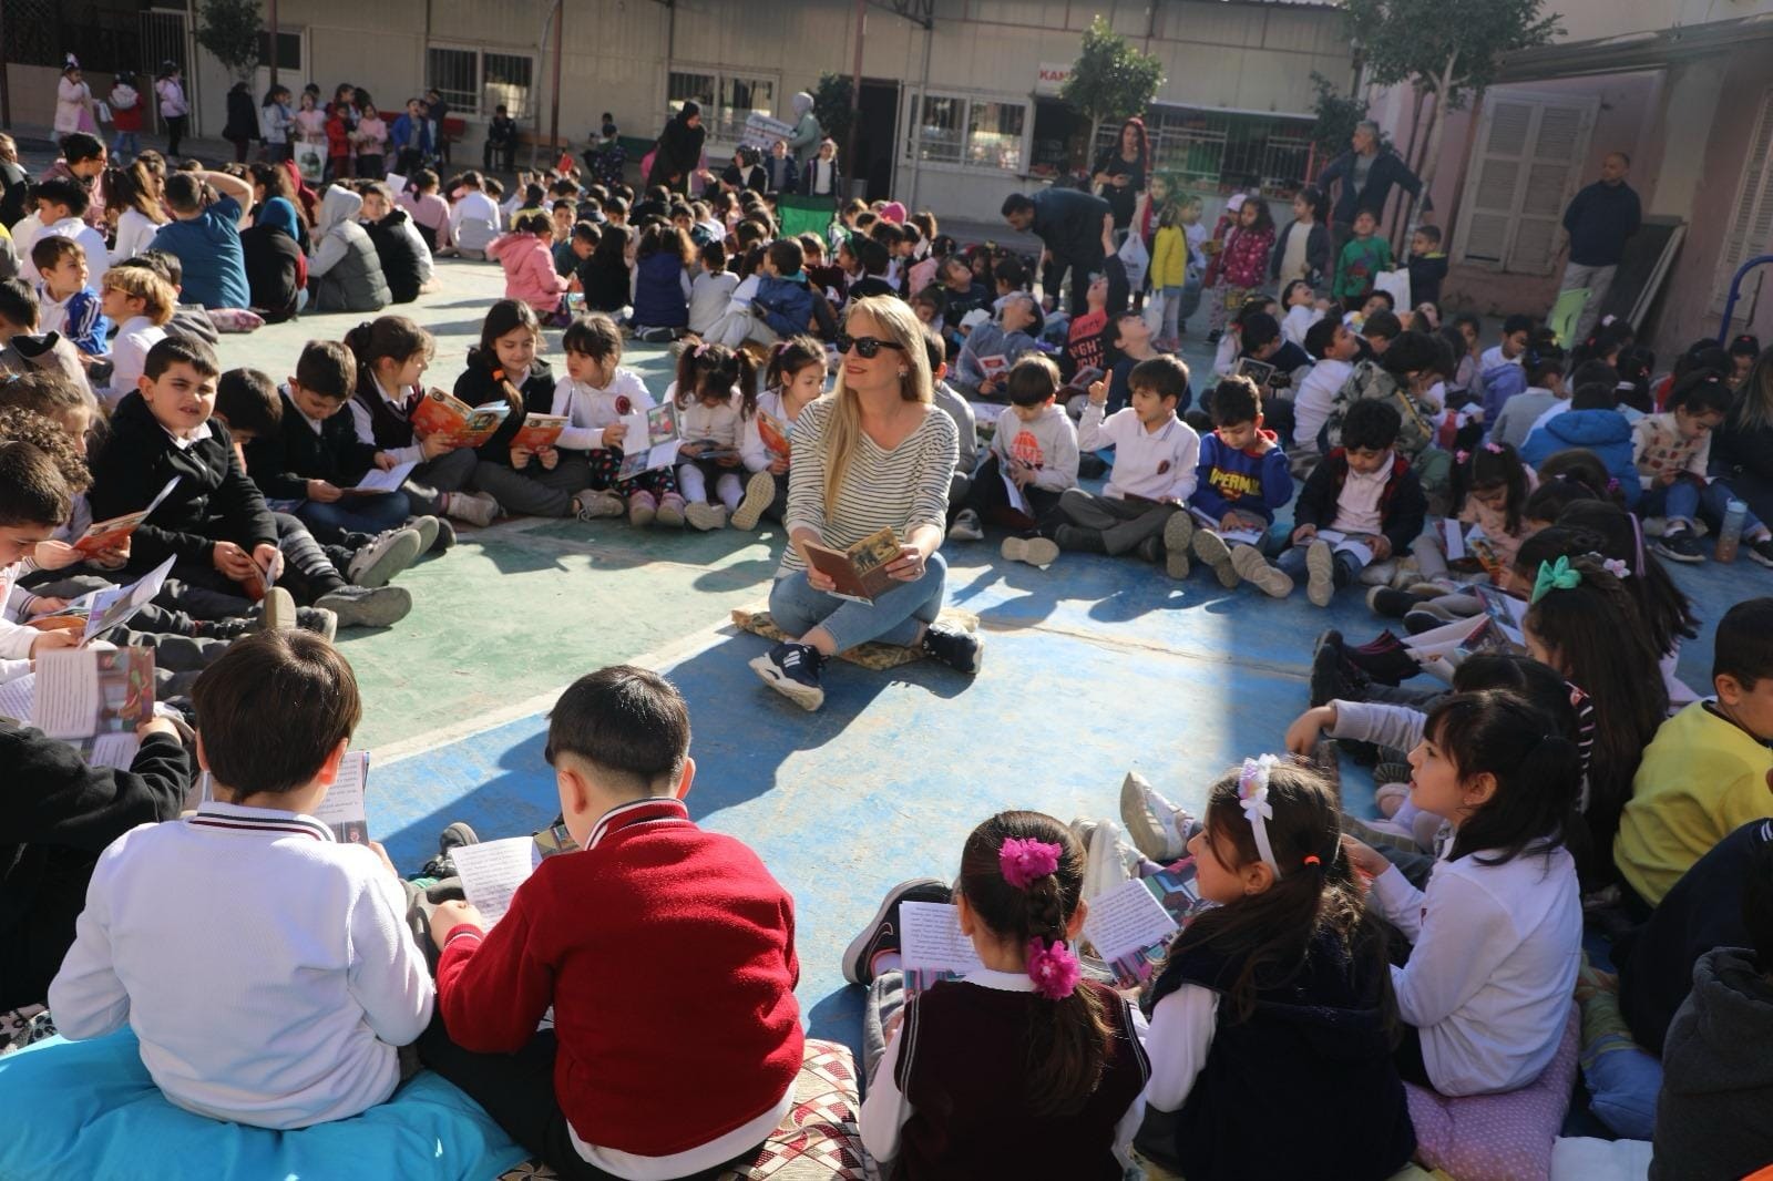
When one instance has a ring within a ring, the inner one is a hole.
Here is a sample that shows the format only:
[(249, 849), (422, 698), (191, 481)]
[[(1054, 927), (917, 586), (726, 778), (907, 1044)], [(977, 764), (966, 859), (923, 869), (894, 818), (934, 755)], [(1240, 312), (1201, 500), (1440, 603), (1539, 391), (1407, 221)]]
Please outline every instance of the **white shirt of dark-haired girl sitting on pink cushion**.
[(1392, 968), (1397, 1011), (1447, 1096), (1528, 1085), (1557, 1055), (1582, 965), (1576, 860), (1558, 846), (1486, 865), (1436, 862), (1427, 892), (1397, 867), (1372, 880), (1379, 910), (1411, 942)]

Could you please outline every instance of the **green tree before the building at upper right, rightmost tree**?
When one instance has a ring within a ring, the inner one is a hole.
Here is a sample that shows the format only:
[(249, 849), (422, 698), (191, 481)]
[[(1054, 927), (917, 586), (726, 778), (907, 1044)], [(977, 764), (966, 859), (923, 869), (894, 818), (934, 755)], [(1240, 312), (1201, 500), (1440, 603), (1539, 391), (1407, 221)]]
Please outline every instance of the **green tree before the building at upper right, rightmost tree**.
[(1344, 0), (1349, 34), (1381, 87), (1408, 82), (1434, 99), (1424, 186), (1440, 163), (1447, 112), (1496, 80), (1502, 57), (1550, 43), (1562, 25), (1544, 0)]

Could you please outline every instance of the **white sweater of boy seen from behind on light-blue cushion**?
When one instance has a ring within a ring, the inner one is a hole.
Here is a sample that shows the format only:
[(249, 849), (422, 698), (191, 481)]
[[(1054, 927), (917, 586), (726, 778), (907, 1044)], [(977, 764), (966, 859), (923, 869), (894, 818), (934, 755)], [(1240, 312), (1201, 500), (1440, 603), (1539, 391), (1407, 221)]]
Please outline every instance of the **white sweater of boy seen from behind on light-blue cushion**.
[(64, 1037), (128, 1023), (177, 1107), (307, 1128), (383, 1103), (431, 1021), (399, 880), (298, 812), (206, 803), (99, 856), (50, 984)]

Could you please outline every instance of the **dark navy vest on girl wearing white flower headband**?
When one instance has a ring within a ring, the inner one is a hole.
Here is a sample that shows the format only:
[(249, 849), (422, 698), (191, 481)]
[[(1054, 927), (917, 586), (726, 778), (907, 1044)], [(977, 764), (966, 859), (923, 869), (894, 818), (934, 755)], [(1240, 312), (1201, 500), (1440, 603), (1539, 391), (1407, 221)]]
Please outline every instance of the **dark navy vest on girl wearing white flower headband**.
[(1222, 993), (1174, 1142), (1151, 1146), (1160, 1161), (1188, 1181), (1383, 1181), (1402, 1169), (1417, 1133), (1381, 1013), (1385, 965), (1356, 965), (1319, 931), (1291, 981), (1257, 988), (1246, 1021), (1225, 995), (1241, 966), (1213, 947), (1184, 947), (1152, 988), (1152, 1005), (1183, 984)]

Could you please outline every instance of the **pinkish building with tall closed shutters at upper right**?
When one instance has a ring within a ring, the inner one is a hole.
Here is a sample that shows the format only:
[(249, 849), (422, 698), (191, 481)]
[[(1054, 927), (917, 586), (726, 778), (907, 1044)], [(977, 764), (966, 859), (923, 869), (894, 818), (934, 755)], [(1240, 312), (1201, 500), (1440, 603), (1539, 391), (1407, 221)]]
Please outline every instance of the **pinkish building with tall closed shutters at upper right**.
[[(1558, 41), (1512, 55), (1498, 85), (1450, 112), (1431, 190), (1449, 232), (1443, 303), (1544, 314), (1567, 257), (1564, 207), (1622, 151), (1645, 220), (1677, 234), (1640, 323), (1668, 365), (1718, 335), (1736, 270), (1773, 254), (1773, 0), (1553, 7)], [(1411, 113), (1404, 89), (1374, 105), (1394, 140), (1408, 140)], [(1732, 333), (1773, 340), (1769, 271), (1746, 277)]]

